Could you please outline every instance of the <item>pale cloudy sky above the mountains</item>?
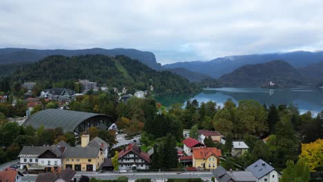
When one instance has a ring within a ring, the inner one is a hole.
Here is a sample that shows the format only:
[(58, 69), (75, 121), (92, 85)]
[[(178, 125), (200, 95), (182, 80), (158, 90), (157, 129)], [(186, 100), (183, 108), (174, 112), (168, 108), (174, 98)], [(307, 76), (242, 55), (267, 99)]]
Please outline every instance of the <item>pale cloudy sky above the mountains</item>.
[(135, 48), (161, 64), (323, 48), (323, 1), (1, 0), (0, 48)]

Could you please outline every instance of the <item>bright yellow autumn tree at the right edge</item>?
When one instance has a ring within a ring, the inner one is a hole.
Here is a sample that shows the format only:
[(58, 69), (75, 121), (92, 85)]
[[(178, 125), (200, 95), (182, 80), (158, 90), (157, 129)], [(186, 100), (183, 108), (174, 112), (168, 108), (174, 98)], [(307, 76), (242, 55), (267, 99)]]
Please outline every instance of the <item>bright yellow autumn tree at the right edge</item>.
[(323, 168), (323, 139), (317, 139), (312, 143), (302, 143), (302, 154), (300, 159), (305, 159), (309, 164), (311, 172)]

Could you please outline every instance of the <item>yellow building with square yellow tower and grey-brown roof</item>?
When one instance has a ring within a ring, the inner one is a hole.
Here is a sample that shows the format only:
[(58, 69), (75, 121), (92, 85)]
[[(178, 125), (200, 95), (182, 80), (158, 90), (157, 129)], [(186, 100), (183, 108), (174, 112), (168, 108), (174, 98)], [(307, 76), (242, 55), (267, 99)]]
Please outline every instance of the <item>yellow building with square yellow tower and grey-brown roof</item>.
[(90, 136), (81, 136), (81, 148), (66, 147), (63, 153), (62, 169), (71, 168), (75, 171), (96, 171), (104, 163), (104, 151), (99, 147), (88, 147)]

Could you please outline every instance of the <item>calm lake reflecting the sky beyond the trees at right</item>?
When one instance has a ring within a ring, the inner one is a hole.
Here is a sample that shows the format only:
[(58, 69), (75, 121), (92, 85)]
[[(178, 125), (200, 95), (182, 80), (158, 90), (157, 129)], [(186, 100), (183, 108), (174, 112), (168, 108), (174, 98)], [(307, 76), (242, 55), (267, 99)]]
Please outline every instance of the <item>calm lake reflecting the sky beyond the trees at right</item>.
[(323, 110), (322, 88), (206, 88), (199, 94), (164, 94), (155, 99), (165, 106), (173, 103), (186, 103), (187, 99), (197, 99), (199, 103), (214, 101), (221, 106), (228, 99), (232, 99), (235, 103), (242, 99), (255, 99), (266, 105), (293, 103), (297, 105), (301, 113), (310, 110), (313, 116)]

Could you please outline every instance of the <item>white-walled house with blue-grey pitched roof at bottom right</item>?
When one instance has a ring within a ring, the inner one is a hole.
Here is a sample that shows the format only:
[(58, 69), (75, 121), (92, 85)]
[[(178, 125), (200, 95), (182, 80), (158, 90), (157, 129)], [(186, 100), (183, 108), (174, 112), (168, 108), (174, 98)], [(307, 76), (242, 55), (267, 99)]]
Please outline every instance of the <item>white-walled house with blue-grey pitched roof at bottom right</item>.
[(257, 182), (279, 182), (279, 179), (282, 176), (273, 166), (262, 159), (255, 161), (255, 163), (249, 165), (246, 169), (253, 172), (253, 176), (255, 176)]

